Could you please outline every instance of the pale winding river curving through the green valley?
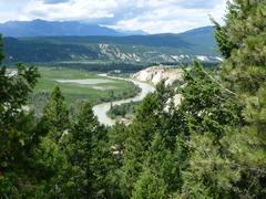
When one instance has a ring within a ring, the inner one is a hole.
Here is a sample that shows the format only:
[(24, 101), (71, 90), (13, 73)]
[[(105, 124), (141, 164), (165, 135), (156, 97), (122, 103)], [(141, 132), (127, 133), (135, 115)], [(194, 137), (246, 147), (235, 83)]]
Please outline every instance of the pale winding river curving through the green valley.
[(125, 103), (130, 103), (130, 102), (140, 102), (142, 101), (149, 93), (154, 92), (155, 88), (154, 86), (152, 86), (149, 83), (144, 83), (144, 82), (140, 82), (136, 80), (132, 80), (132, 78), (122, 78), (122, 77), (116, 77), (116, 76), (108, 76), (106, 74), (100, 74), (100, 76), (106, 76), (109, 78), (114, 78), (114, 80), (123, 80), (123, 81), (130, 81), (132, 83), (134, 83), (136, 86), (141, 87), (141, 93), (139, 93), (136, 96), (131, 97), (131, 98), (126, 98), (126, 100), (121, 100), (121, 101), (114, 101), (114, 102), (108, 102), (108, 103), (102, 103), (99, 105), (93, 106), (93, 113), (95, 114), (95, 116), (98, 117), (99, 122), (101, 124), (104, 124), (106, 126), (112, 126), (115, 124), (115, 121), (110, 118), (108, 116), (108, 112), (111, 108), (111, 104), (113, 105), (122, 105)]

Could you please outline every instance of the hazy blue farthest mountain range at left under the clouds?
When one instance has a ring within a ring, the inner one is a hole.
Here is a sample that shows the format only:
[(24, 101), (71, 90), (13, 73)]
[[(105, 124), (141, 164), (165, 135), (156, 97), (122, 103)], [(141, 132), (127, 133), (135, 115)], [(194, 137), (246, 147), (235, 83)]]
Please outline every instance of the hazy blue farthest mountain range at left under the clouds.
[(3, 36), (58, 36), (58, 35), (123, 35), (113, 29), (78, 21), (8, 21), (0, 23)]

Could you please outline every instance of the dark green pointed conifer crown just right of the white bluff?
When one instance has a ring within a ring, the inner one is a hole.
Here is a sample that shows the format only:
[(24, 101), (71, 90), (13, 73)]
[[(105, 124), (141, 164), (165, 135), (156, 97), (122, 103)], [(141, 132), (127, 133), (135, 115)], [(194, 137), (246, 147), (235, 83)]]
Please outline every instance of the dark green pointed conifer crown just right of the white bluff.
[(241, 121), (242, 106), (234, 98), (234, 94), (198, 63), (190, 71), (184, 71), (184, 101), (180, 111), (185, 112), (188, 134), (212, 132), (219, 139), (224, 135), (225, 126), (233, 126)]

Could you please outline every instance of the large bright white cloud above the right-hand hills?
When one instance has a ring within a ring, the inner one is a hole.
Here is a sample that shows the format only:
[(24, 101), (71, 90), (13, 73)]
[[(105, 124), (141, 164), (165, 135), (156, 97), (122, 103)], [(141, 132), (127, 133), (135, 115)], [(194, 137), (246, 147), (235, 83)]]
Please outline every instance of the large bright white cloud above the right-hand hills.
[(213, 8), (183, 8), (171, 1), (152, 4), (150, 0), (146, 12), (132, 19), (120, 20), (112, 28), (141, 29), (150, 33), (182, 32), (197, 27), (211, 25), (209, 15), (222, 22), (225, 4), (225, 0), (221, 0)]

